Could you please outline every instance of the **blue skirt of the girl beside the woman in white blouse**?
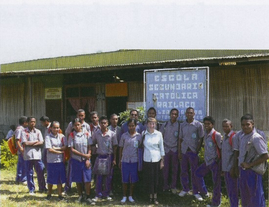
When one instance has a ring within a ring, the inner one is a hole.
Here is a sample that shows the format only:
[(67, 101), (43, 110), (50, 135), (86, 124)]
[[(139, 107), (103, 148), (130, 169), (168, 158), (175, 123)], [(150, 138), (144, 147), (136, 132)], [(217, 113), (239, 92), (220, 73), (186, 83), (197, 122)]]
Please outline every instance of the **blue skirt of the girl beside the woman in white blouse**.
[(138, 181), (138, 162), (122, 162), (121, 163), (121, 174), (122, 183), (136, 183)]

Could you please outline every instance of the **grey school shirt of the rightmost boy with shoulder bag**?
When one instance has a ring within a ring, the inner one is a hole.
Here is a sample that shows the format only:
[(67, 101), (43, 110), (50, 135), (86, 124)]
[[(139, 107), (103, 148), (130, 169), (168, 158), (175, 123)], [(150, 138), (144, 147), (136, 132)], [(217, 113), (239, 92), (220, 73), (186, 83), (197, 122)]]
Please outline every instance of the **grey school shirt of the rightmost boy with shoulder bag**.
[[(251, 143), (251, 137), (253, 141)], [(247, 158), (245, 160), (245, 155), (247, 153), (247, 149), (249, 148)], [(252, 131), (249, 134), (242, 133), (239, 137), (239, 157), (238, 157), (238, 166), (240, 166), (243, 162), (252, 162), (253, 158), (258, 155), (268, 153), (267, 146), (264, 138), (258, 133)]]

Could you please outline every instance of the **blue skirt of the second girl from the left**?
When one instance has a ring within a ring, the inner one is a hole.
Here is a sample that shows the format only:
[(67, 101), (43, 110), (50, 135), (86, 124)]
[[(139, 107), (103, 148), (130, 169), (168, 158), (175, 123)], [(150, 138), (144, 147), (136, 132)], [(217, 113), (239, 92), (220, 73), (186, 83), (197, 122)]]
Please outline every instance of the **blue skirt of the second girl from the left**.
[(82, 183), (91, 182), (91, 167), (86, 167), (85, 161), (71, 159), (72, 167), (72, 182)]

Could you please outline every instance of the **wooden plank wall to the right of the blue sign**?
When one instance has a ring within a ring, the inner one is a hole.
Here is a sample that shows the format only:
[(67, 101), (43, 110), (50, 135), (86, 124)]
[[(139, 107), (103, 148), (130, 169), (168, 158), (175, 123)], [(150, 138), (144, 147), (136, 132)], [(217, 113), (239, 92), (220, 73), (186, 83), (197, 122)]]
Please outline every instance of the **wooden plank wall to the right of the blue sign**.
[(254, 125), (269, 130), (269, 64), (225, 66), (209, 69), (209, 115), (216, 130), (222, 131), (222, 120), (230, 118), (240, 130), (240, 118), (254, 117)]

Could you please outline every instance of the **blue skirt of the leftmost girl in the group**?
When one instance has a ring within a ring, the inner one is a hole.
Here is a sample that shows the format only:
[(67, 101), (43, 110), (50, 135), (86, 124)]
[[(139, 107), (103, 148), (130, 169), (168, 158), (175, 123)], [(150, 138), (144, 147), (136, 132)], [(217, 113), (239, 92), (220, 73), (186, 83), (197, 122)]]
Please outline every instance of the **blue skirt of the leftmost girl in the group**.
[(48, 184), (66, 183), (66, 168), (64, 162), (47, 163)]

